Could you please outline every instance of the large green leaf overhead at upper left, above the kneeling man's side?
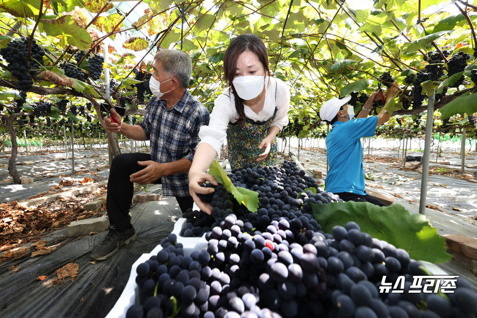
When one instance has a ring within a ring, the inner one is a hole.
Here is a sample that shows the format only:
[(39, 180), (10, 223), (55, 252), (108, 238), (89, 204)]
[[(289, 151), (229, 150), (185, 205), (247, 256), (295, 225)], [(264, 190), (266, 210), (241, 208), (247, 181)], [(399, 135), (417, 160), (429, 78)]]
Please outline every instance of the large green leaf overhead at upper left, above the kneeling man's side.
[(42, 19), (41, 27), (49, 36), (63, 36), (68, 44), (79, 49), (89, 49), (92, 43), (88, 31), (80, 27), (71, 15), (65, 15), (58, 19)]

